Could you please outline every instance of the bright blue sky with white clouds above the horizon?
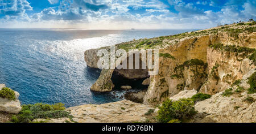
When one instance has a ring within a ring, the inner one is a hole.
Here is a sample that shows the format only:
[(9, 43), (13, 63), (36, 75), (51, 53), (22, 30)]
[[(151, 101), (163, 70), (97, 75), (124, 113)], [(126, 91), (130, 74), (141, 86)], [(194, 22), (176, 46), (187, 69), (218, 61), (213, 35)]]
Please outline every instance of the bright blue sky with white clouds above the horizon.
[(256, 20), (256, 0), (0, 0), (0, 28), (180, 29)]

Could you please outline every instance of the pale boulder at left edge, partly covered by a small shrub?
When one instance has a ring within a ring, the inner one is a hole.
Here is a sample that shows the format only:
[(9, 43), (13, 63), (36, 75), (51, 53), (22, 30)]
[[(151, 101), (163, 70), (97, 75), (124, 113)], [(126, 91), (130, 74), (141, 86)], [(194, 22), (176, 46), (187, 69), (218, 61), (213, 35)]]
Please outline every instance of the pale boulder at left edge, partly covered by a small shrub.
[[(0, 85), (0, 89), (2, 89), (3, 87), (5, 87), (5, 84)], [(19, 111), (22, 109), (22, 107), (20, 106), (20, 102), (18, 100), (19, 93), (15, 92), (15, 91), (14, 91), (14, 93), (15, 93), (15, 97), (16, 97), (15, 101), (0, 97), (0, 111), (4, 111), (4, 112), (10, 113), (10, 114), (18, 114), (19, 113)]]

